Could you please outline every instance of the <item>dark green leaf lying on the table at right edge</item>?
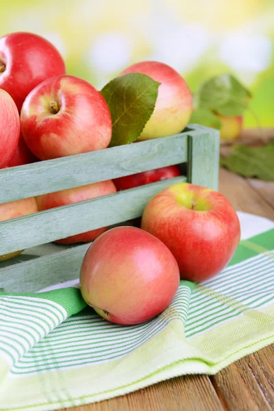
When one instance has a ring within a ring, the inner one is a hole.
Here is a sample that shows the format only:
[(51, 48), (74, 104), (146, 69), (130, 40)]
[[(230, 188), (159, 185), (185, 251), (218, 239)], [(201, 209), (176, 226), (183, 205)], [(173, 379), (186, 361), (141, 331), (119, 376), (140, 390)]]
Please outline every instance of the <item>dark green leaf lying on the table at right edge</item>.
[(220, 164), (244, 177), (258, 177), (274, 181), (274, 142), (262, 147), (238, 145), (227, 158), (221, 158)]

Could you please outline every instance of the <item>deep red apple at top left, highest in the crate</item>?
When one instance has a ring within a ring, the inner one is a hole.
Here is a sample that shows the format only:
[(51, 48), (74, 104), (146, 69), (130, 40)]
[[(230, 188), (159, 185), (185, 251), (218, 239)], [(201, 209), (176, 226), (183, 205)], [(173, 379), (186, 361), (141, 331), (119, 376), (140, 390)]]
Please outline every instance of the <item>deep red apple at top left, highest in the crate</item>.
[(19, 111), (34, 87), (64, 73), (60, 53), (45, 38), (21, 32), (0, 38), (0, 88), (8, 91)]

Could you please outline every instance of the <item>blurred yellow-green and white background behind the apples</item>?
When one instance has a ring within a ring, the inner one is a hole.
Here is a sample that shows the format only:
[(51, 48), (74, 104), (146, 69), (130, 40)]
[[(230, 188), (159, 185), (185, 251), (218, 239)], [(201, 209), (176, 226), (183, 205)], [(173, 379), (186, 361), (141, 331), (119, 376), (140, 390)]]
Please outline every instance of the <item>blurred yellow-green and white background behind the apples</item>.
[(253, 92), (245, 127), (274, 125), (273, 0), (0, 0), (0, 35), (16, 31), (51, 40), (97, 88), (141, 60), (170, 64), (192, 91), (232, 73)]

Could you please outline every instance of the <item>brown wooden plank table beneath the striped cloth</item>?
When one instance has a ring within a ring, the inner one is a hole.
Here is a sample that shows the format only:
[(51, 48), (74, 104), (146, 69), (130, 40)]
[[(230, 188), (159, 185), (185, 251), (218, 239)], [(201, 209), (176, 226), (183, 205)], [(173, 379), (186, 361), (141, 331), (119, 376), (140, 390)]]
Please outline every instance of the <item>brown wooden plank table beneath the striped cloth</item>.
[[(219, 191), (236, 210), (274, 220), (274, 183), (220, 170)], [(218, 374), (169, 379), (134, 393), (70, 411), (274, 410), (274, 345), (242, 358)]]

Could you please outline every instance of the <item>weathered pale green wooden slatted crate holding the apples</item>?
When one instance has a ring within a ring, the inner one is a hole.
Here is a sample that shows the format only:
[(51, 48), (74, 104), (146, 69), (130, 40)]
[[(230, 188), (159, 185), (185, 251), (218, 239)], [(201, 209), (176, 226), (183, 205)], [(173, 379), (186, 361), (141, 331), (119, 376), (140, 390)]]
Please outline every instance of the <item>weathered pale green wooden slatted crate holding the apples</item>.
[(0, 288), (34, 292), (77, 278), (89, 244), (62, 246), (51, 241), (135, 219), (153, 195), (175, 182), (217, 190), (219, 132), (188, 125), (175, 136), (1, 170), (0, 203), (7, 203), (184, 162), (185, 177), (1, 222), (0, 256), (26, 251), (0, 262)]

